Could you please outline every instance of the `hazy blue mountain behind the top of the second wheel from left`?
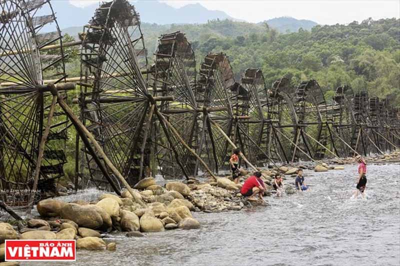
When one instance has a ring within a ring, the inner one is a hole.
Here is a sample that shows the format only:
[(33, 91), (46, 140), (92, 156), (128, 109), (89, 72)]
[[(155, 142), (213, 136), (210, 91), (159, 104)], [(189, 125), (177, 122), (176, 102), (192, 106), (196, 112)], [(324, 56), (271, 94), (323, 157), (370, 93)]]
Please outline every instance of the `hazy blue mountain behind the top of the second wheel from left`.
[[(138, 0), (131, 1), (140, 15), (142, 22), (157, 24), (184, 24), (206, 23), (211, 19), (231, 19), (239, 21), (227, 15), (223, 11), (208, 10), (199, 3), (187, 4), (180, 8), (172, 7), (159, 1)], [(61, 28), (82, 26), (87, 24), (93, 16), (98, 3), (90, 4), (84, 8), (74, 6), (67, 0), (53, 0), (51, 4), (56, 12), (58, 24)]]

